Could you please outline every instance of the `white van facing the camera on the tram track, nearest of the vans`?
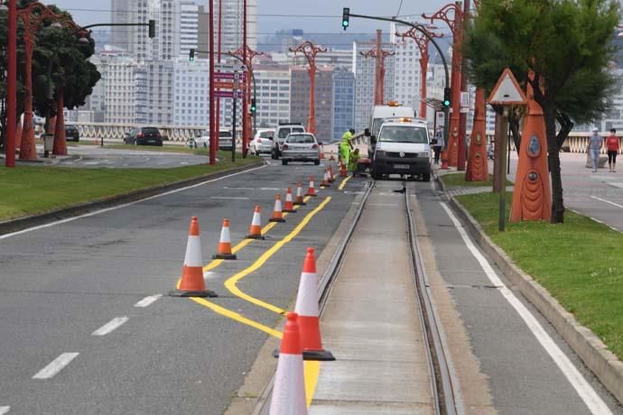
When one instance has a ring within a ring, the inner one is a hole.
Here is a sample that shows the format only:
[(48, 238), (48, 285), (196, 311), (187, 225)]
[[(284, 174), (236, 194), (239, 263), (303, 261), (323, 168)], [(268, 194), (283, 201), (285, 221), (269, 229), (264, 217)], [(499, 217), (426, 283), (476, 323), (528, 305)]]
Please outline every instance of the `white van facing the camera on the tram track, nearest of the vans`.
[(431, 142), (426, 122), (404, 117), (381, 124), (371, 168), (374, 179), (400, 174), (430, 181)]

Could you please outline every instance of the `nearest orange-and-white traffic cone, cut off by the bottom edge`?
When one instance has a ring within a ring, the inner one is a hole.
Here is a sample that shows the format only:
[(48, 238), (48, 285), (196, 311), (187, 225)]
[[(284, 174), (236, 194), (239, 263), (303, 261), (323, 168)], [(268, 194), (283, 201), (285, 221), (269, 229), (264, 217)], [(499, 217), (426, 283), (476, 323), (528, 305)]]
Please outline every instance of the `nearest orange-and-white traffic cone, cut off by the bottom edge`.
[(296, 313), (288, 313), (274, 375), (271, 415), (307, 415), (302, 347)]

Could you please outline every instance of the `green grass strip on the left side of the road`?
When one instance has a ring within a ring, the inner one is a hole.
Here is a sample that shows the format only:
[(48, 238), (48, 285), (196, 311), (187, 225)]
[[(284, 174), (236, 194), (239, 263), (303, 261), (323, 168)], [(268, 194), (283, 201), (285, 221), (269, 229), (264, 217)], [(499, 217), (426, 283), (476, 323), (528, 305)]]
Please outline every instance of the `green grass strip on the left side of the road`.
[[(221, 154), (222, 155), (222, 154)], [(69, 208), (89, 201), (123, 195), (179, 180), (208, 176), (219, 171), (257, 163), (249, 156), (232, 163), (172, 169), (78, 169), (18, 166), (0, 169), (0, 221)]]

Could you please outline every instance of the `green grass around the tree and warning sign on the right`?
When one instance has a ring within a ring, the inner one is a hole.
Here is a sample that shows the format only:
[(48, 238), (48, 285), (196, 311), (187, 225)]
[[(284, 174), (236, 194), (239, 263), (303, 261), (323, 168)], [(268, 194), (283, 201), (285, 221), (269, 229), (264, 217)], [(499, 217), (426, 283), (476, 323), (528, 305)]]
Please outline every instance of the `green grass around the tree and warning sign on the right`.
[[(519, 268), (623, 357), (623, 234), (569, 210), (564, 224), (520, 222), (500, 233), (498, 193), (457, 199)], [(507, 193), (507, 210), (512, 199)]]

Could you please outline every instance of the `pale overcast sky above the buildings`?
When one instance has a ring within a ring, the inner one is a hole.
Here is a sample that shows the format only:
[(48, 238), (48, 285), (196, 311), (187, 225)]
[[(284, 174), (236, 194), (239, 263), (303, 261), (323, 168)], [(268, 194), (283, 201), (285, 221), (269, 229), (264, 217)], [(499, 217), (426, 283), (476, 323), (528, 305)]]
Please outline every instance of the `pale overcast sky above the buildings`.
[[(69, 10), (74, 20), (81, 24), (110, 22), (110, 0), (56, 0), (54, 3)], [(198, 0), (208, 5), (207, 0)], [(352, 13), (393, 16), (401, 0), (257, 0), (258, 32), (273, 33), (281, 29), (302, 29), (305, 32), (340, 32), (342, 7)], [(433, 13), (448, 0), (404, 0), (400, 15)], [(295, 14), (302, 17), (271, 16), (270, 14)], [(334, 17), (311, 17), (334, 16)], [(389, 23), (351, 19), (349, 32), (374, 33), (376, 29), (389, 29)]]

